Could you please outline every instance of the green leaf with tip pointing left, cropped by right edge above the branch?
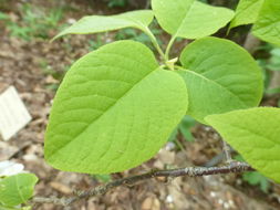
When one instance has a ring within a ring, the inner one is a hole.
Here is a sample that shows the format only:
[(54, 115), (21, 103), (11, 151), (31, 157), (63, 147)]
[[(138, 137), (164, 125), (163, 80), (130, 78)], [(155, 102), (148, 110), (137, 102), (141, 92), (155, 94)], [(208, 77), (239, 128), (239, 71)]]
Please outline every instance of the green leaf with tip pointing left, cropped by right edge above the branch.
[(234, 111), (205, 119), (253, 168), (280, 182), (280, 109)]

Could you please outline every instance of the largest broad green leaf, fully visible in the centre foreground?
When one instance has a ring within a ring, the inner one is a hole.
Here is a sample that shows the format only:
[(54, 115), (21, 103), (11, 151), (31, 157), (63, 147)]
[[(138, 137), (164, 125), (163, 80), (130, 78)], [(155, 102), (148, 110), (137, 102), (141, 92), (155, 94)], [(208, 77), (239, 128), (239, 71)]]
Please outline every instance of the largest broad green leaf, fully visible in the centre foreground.
[[(45, 158), (61, 170), (111, 174), (141, 165), (187, 111), (187, 90), (152, 51), (118, 41), (80, 59), (54, 98)], [(179, 99), (178, 99), (179, 98)]]

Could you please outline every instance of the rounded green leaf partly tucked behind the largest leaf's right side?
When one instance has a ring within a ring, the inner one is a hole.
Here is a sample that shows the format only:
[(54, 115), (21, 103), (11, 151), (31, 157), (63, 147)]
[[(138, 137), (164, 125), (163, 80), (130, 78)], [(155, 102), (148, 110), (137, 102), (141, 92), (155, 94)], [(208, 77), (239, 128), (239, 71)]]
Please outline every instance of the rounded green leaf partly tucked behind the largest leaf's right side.
[(262, 73), (250, 54), (236, 43), (204, 38), (188, 44), (180, 62), (189, 97), (187, 114), (205, 123), (210, 114), (257, 106)]

